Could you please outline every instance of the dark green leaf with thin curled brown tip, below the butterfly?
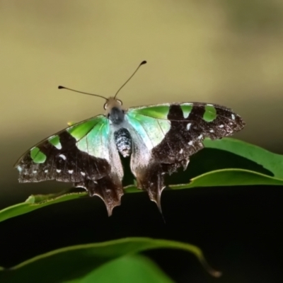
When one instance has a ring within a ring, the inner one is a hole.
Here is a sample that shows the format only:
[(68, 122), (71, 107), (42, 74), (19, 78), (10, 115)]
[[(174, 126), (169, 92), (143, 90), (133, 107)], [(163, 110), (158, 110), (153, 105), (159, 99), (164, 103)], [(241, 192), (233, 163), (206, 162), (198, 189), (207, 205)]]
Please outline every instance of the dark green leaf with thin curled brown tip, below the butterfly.
[(214, 277), (221, 276), (220, 272), (209, 267), (202, 254), (202, 250), (197, 248), (197, 246), (152, 238), (122, 238), (104, 243), (60, 248), (59, 250), (39, 255), (22, 262), (20, 265), (0, 271), (0, 282), (49, 283), (72, 282), (71, 280), (74, 279), (76, 281), (73, 282), (80, 282), (78, 279), (91, 276), (93, 270), (102, 267), (102, 265), (111, 260), (157, 248), (179, 249), (192, 253), (200, 260), (210, 275)]

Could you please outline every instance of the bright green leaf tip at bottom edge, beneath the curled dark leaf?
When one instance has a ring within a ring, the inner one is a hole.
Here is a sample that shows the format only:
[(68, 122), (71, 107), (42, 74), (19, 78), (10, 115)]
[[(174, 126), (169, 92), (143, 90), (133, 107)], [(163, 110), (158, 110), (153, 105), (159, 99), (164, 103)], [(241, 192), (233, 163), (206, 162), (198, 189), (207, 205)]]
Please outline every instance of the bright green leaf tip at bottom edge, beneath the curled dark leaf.
[(152, 260), (142, 255), (126, 255), (105, 263), (80, 279), (68, 281), (68, 283), (93, 282), (173, 283)]

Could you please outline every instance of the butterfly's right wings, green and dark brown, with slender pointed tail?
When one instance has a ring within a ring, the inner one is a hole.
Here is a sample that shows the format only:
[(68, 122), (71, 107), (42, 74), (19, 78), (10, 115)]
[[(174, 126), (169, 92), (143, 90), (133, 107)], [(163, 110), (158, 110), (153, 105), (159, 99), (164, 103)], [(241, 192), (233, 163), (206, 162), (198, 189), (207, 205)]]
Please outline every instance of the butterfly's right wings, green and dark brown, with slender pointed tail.
[(129, 130), (134, 140), (131, 168), (137, 184), (160, 208), (164, 174), (187, 168), (203, 139), (219, 139), (245, 123), (231, 109), (207, 103), (180, 103), (130, 108)]

